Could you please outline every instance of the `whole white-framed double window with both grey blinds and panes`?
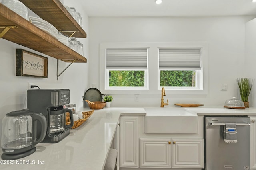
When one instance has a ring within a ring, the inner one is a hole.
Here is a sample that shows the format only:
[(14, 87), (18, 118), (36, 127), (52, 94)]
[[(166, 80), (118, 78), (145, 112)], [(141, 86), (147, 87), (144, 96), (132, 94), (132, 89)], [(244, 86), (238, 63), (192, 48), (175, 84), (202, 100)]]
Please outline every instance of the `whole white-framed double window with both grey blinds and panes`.
[(104, 94), (208, 93), (207, 42), (105, 42), (99, 62)]

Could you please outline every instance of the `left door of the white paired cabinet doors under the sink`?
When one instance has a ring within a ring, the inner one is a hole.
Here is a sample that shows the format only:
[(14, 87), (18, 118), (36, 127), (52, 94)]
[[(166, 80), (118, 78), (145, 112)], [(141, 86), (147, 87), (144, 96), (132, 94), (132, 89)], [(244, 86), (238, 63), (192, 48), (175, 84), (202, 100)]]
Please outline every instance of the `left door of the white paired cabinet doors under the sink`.
[(140, 167), (171, 168), (171, 139), (140, 139)]

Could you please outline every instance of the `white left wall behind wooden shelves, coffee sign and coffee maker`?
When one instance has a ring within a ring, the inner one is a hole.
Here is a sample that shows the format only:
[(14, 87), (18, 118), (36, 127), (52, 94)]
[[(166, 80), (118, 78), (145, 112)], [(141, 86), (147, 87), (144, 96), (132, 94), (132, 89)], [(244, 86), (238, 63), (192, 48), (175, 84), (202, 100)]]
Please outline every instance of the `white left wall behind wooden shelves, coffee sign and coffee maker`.
[[(68, 4), (69, 3), (69, 4)], [(80, 11), (83, 18), (83, 29), (88, 31), (88, 16), (83, 11), (82, 6), (67, 1), (67, 6), (74, 6)], [(79, 39), (84, 44), (84, 55), (89, 62), (88, 56), (88, 38)], [(33, 53), (48, 57), (48, 78), (32, 78), (16, 76), (15, 49), (22, 48)], [(2, 131), (2, 118), (10, 111), (27, 108), (26, 92), (28, 82), (35, 82), (40, 88), (67, 88), (70, 89), (70, 103), (77, 105), (81, 109), (84, 105), (82, 96), (88, 89), (88, 63), (73, 63), (57, 81), (57, 59), (38, 53), (26, 47), (17, 45), (5, 39), (0, 39), (0, 135)], [(60, 61), (60, 72), (68, 66), (69, 63)]]

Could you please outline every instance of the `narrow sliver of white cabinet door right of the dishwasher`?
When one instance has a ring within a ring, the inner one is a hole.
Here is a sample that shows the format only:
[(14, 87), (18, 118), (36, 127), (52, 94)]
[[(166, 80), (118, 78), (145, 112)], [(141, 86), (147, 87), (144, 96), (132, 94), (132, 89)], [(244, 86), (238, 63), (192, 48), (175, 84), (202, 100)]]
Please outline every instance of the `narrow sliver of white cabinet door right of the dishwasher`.
[(250, 153), (250, 157), (251, 157), (251, 170), (255, 170), (256, 169), (256, 117), (251, 117), (251, 153)]

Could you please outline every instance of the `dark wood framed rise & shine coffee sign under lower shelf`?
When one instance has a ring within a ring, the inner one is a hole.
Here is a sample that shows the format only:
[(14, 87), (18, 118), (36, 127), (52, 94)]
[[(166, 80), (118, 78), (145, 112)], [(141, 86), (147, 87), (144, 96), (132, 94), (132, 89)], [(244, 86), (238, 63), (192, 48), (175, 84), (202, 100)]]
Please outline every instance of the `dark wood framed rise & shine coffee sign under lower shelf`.
[(48, 58), (16, 49), (16, 76), (47, 78)]

